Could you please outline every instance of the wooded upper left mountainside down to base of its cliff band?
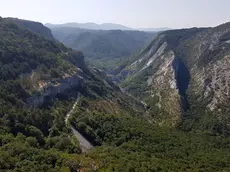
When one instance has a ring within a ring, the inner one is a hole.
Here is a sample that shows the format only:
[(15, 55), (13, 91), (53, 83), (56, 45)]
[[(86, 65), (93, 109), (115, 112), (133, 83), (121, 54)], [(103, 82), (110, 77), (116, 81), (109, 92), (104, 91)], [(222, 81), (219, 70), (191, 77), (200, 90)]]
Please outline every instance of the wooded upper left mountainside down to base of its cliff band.
[(47, 39), (49, 35), (39, 31), (50, 33), (36, 22), (0, 19), (3, 104), (41, 106), (56, 97), (74, 96), (82, 88), (86, 68), (83, 54)]

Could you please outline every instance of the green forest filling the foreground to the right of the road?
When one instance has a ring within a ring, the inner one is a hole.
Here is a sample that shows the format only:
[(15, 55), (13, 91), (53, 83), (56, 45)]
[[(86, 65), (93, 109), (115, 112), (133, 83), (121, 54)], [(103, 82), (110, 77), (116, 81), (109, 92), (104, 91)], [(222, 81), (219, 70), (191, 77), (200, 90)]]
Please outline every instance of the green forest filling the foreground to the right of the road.
[(230, 139), (159, 127), (143, 117), (108, 114), (82, 99), (72, 124), (99, 146), (89, 156), (101, 171), (229, 171)]

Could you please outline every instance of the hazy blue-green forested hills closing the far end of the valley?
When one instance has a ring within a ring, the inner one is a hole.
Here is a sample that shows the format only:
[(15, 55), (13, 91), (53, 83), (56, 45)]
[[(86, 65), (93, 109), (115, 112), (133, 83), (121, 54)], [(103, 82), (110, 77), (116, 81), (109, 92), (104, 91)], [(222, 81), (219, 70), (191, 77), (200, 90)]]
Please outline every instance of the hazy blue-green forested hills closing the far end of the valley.
[(82, 51), (92, 65), (109, 70), (116, 68), (118, 61), (144, 47), (156, 35), (156, 32), (74, 27), (51, 27), (51, 30), (57, 40)]

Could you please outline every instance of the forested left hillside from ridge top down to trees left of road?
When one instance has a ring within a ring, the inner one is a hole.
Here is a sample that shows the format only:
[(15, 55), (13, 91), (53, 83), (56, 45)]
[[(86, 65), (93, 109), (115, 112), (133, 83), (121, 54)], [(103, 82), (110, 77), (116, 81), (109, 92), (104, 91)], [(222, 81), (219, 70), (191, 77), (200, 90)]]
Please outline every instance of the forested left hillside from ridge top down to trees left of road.
[(103, 74), (85, 66), (81, 52), (14, 21), (0, 19), (1, 171), (91, 169), (90, 161), (79, 162), (89, 158), (77, 155), (79, 143), (64, 120), (77, 92), (95, 101), (110, 99), (118, 110), (126, 111), (126, 104), (134, 115), (138, 110), (122, 103), (127, 98)]

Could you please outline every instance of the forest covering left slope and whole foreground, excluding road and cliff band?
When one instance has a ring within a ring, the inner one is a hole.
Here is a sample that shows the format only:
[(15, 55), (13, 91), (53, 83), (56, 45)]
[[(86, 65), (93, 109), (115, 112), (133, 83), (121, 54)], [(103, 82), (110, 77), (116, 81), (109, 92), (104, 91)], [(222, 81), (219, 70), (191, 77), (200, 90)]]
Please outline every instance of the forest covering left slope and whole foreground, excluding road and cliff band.
[[(213, 121), (213, 132), (155, 123), (150, 107), (86, 66), (81, 52), (18, 22), (0, 18), (0, 171), (230, 171), (230, 138)], [(29, 104), (45, 94), (38, 82), (52, 89), (74, 76), (81, 87)], [(65, 123), (78, 92), (69, 124), (95, 146), (86, 153)]]

